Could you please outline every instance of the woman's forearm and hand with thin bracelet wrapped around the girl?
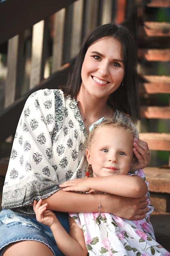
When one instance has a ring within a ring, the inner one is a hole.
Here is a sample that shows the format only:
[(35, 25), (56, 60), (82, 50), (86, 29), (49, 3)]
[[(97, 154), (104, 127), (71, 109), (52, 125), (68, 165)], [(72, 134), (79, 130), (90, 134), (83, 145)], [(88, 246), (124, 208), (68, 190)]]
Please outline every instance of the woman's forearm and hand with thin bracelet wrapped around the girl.
[[(101, 212), (113, 213), (127, 220), (141, 220), (148, 212), (147, 196), (141, 198), (127, 198), (106, 193), (102, 195)], [(48, 209), (65, 212), (98, 212), (100, 195), (77, 193), (72, 191), (57, 191), (45, 198)]]

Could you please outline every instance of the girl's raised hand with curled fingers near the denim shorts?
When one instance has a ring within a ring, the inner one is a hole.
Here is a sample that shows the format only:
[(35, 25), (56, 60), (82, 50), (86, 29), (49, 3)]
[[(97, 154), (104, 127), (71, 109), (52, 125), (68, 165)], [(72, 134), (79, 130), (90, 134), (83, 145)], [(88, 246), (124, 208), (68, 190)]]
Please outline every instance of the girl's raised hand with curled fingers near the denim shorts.
[(46, 209), (47, 206), (47, 203), (42, 204), (42, 199), (40, 199), (38, 202), (34, 200), (33, 209), (36, 214), (36, 219), (42, 224), (51, 227), (51, 225), (53, 225), (57, 217), (52, 211)]

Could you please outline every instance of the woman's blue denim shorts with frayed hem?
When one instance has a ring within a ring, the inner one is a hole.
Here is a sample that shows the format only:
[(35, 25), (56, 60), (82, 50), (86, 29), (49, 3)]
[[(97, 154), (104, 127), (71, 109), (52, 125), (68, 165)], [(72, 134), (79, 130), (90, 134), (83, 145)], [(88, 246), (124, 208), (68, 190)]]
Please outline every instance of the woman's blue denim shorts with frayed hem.
[[(54, 212), (64, 229), (69, 232), (68, 213)], [(0, 212), (0, 256), (7, 245), (22, 240), (39, 241), (47, 245), (55, 256), (64, 256), (58, 249), (51, 229), (34, 217), (28, 217), (11, 210)]]

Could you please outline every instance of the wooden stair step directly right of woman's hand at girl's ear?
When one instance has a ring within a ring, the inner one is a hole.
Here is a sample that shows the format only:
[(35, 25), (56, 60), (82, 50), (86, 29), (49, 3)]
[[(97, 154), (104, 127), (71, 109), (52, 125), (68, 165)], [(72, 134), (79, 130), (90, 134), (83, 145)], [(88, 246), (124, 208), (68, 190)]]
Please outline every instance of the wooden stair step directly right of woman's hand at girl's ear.
[(140, 132), (139, 138), (148, 143), (150, 150), (170, 151), (170, 133)]

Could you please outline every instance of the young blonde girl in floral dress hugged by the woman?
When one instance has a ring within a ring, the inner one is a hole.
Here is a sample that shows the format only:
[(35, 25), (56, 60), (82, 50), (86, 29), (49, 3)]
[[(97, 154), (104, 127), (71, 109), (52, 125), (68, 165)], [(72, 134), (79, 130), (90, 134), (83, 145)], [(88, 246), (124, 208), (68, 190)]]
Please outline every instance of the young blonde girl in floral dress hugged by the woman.
[[(42, 200), (34, 202), (37, 220), (51, 228), (56, 243), (64, 255), (86, 256), (88, 252), (90, 256), (170, 256), (170, 253), (156, 242), (148, 214), (143, 220), (128, 221), (101, 212), (104, 210), (103, 193), (137, 198), (148, 191), (143, 171), (131, 171), (136, 162), (132, 150), (134, 136), (134, 127), (122, 122), (115, 123), (111, 118), (100, 119), (92, 128), (87, 139), (86, 158), (88, 165), (93, 169), (93, 177), (70, 180), (60, 187), (64, 191), (101, 193), (99, 212), (70, 213), (70, 236), (56, 216), (46, 210), (47, 204), (42, 205)], [(148, 207), (151, 213), (153, 207)]]

